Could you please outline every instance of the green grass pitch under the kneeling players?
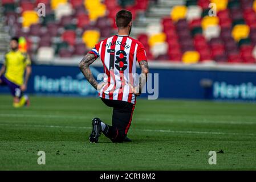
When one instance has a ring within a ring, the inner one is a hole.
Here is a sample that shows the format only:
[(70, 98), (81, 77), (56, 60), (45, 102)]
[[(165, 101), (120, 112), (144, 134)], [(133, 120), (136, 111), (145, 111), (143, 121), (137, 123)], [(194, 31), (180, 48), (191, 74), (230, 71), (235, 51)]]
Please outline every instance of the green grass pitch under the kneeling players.
[[(14, 109), (0, 96), (1, 170), (255, 170), (256, 105), (237, 102), (138, 100), (128, 137), (92, 144), (91, 119), (111, 124), (99, 98), (32, 96)], [(209, 151), (217, 153), (210, 165)], [(46, 164), (37, 163), (38, 151)]]

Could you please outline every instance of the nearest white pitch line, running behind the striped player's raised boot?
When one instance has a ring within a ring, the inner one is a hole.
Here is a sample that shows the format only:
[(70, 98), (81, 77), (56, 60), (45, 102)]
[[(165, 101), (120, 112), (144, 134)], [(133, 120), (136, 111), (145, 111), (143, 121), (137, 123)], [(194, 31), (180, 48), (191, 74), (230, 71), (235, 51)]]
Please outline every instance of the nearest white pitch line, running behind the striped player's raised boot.
[[(21, 125), (21, 124), (8, 124), (0, 123), (2, 126), (29, 126), (29, 127), (50, 127), (50, 128), (69, 128), (69, 129), (92, 129), (91, 127), (83, 126), (55, 126), (55, 125)], [(256, 134), (252, 133), (222, 133), (222, 132), (208, 132), (208, 131), (178, 131), (178, 130), (151, 130), (151, 129), (133, 129), (138, 131), (147, 131), (147, 132), (161, 132), (161, 133), (186, 133), (186, 134), (212, 134), (212, 135), (249, 135), (255, 136)]]

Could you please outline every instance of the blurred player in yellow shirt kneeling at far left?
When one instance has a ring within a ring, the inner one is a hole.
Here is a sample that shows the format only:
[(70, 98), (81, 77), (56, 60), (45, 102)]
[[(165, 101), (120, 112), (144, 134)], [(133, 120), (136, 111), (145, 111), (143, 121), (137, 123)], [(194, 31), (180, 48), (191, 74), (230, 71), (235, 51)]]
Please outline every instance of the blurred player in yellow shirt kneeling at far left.
[(18, 38), (11, 39), (10, 49), (5, 55), (5, 61), (0, 70), (0, 85), (10, 88), (14, 97), (14, 107), (29, 106), (29, 97), (23, 92), (27, 89), (27, 82), (31, 74), (31, 61), (26, 52), (19, 51)]

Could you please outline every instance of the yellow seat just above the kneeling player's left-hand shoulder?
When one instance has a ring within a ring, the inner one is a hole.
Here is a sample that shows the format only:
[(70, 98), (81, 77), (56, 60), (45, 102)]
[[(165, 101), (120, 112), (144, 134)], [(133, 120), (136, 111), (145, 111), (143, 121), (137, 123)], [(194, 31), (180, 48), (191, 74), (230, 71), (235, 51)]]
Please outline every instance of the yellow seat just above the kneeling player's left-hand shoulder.
[(99, 42), (100, 32), (96, 30), (84, 31), (82, 39), (88, 48), (94, 48), (95, 44)]

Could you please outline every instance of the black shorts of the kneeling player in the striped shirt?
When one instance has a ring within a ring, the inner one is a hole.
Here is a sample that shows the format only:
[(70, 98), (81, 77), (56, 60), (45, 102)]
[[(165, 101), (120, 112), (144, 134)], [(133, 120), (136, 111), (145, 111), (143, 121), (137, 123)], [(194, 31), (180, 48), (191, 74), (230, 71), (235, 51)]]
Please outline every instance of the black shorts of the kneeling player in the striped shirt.
[(108, 100), (101, 98), (105, 105), (113, 107), (112, 126), (116, 127), (120, 133), (127, 135), (132, 122), (132, 114), (135, 104), (125, 101)]

